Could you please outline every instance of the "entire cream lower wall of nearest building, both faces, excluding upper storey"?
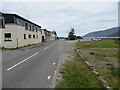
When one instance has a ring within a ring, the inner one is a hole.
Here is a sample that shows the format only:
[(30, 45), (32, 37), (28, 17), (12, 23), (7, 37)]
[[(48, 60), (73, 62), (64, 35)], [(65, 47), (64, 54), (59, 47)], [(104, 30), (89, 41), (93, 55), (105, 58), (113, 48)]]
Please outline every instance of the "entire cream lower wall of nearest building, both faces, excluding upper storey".
[[(33, 31), (28, 31), (25, 30), (25, 27), (23, 26), (19, 26), (19, 25), (15, 25), (15, 24), (7, 24), (5, 25), (5, 29), (1, 30), (2, 31), (2, 42), (3, 42), (3, 47), (5, 48), (16, 48), (18, 47), (22, 47), (25, 45), (29, 45), (29, 44), (36, 44), (36, 43), (41, 43), (42, 39), (42, 35), (41, 32), (33, 32)], [(4, 41), (4, 33), (11, 33), (12, 36), (12, 41)], [(27, 39), (24, 39), (24, 34), (26, 34)], [(28, 38), (28, 35), (31, 34), (32, 38)], [(33, 38), (33, 35), (38, 35), (38, 38)]]

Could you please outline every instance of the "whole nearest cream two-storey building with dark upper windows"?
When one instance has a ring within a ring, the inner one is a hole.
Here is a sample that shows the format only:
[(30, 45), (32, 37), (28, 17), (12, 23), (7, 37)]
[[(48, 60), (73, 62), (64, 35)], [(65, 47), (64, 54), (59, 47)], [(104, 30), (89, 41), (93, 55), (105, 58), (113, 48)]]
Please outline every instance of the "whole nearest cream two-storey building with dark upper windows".
[(0, 15), (0, 47), (17, 48), (41, 43), (42, 36), (47, 37), (45, 33), (41, 26), (16, 14)]

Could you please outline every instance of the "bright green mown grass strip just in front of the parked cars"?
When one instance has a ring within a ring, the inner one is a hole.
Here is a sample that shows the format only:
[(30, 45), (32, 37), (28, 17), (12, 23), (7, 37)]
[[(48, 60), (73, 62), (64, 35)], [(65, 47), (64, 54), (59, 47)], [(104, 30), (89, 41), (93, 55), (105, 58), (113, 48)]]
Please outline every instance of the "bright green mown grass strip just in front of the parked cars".
[[(91, 45), (86, 45), (87, 42), (90, 42)], [(83, 41), (76, 43), (76, 46), (80, 48), (118, 48), (118, 45), (115, 40)]]

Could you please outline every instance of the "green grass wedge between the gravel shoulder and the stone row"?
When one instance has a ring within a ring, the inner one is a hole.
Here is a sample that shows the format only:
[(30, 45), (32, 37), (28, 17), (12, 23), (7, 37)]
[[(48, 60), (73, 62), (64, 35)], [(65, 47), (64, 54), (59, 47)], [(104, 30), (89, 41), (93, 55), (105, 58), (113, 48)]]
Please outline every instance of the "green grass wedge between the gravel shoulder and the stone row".
[(60, 73), (63, 77), (56, 88), (103, 88), (97, 76), (87, 68), (79, 56), (67, 61)]

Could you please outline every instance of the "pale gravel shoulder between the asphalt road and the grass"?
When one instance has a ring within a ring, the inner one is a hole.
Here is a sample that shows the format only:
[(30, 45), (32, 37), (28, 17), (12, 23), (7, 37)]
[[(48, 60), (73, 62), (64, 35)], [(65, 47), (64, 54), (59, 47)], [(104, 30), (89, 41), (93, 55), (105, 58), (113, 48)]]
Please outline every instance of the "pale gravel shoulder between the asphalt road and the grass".
[(58, 61), (58, 66), (55, 71), (51, 88), (55, 88), (56, 84), (58, 83), (59, 80), (61, 80), (61, 74), (59, 73), (60, 69), (63, 67), (63, 64), (67, 61), (70, 60), (71, 58), (74, 57), (74, 47), (75, 43), (77, 40), (74, 41), (66, 41), (64, 40), (63, 44), (61, 45), (61, 49), (59, 50), (60, 55), (59, 55), (59, 61)]

